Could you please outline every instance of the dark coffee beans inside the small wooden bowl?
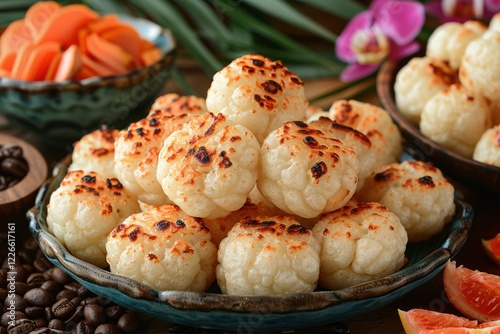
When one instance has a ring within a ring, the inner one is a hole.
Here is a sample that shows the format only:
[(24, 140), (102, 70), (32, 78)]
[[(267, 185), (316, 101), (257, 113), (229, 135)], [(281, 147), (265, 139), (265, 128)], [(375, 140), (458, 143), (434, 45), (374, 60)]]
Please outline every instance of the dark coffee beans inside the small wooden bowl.
[(28, 174), (28, 163), (18, 145), (0, 144), (0, 191), (10, 188)]

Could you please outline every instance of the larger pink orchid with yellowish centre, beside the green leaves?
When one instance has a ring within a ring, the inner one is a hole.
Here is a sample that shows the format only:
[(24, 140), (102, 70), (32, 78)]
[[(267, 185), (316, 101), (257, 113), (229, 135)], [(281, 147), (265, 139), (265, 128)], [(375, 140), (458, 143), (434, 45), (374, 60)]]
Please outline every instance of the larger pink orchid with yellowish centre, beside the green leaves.
[(413, 1), (375, 0), (357, 14), (338, 36), (337, 57), (349, 65), (340, 80), (357, 80), (375, 72), (387, 57), (400, 59), (419, 50), (415, 38), (425, 21), (425, 8)]

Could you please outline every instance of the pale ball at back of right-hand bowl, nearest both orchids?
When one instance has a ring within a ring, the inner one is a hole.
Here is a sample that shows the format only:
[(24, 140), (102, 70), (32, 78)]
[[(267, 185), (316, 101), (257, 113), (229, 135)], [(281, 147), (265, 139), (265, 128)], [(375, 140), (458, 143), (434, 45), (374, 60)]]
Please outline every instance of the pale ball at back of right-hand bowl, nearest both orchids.
[(467, 45), (480, 37), (486, 28), (486, 25), (480, 21), (467, 21), (463, 24), (444, 23), (437, 27), (429, 37), (426, 55), (448, 62), (451, 68), (457, 70)]

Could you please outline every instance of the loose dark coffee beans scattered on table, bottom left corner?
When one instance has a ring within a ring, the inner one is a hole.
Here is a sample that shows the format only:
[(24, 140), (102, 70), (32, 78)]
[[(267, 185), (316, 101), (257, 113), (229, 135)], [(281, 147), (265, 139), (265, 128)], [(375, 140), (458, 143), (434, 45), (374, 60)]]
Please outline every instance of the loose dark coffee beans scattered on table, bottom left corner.
[(140, 332), (137, 313), (96, 296), (52, 265), (32, 237), (18, 248), (15, 263), (2, 254), (0, 334)]

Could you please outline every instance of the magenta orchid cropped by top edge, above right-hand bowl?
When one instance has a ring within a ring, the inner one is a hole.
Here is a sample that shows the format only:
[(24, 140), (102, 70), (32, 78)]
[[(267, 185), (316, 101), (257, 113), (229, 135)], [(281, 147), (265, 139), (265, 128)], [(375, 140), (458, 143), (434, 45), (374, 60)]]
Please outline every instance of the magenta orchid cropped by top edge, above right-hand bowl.
[(491, 19), (500, 11), (500, 0), (433, 0), (425, 8), (441, 22), (465, 22)]

